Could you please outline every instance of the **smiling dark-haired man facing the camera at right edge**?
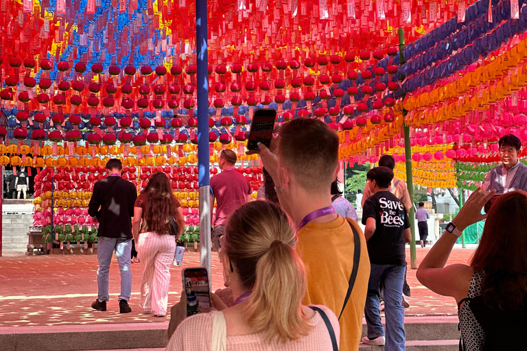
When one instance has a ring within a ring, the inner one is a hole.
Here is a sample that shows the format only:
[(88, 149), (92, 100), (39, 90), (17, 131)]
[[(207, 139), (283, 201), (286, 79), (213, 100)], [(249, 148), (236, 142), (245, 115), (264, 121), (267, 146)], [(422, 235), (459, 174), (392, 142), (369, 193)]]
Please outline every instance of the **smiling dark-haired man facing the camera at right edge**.
[(481, 186), (484, 191), (496, 190), (496, 193), (509, 191), (527, 191), (527, 166), (519, 162), (522, 141), (513, 134), (507, 134), (498, 141), (502, 165), (489, 170)]

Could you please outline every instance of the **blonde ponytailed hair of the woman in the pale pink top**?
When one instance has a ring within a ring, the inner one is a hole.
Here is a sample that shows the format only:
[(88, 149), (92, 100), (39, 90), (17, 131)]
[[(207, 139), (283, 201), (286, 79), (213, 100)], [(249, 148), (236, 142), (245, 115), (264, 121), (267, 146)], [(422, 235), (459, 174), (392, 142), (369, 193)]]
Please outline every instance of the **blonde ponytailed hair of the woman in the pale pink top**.
[(251, 290), (248, 324), (266, 341), (286, 342), (309, 333), (303, 313), (305, 269), (296, 254), (288, 216), (276, 204), (249, 202), (226, 223), (224, 250), (242, 287)]

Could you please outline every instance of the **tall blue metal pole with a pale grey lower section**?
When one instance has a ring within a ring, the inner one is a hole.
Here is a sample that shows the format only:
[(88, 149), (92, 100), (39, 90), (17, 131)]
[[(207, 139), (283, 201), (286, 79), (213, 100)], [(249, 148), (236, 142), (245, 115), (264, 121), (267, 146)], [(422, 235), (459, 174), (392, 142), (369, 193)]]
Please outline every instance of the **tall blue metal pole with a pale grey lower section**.
[(198, 58), (198, 167), (200, 186), (200, 266), (211, 277), (211, 204), (209, 175), (209, 58), (207, 0), (196, 0), (196, 56)]

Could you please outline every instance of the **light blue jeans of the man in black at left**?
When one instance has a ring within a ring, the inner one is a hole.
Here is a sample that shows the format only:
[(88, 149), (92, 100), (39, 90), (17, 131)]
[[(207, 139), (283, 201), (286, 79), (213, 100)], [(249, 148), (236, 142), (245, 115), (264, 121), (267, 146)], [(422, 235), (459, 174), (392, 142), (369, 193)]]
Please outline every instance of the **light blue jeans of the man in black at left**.
[(132, 293), (132, 271), (130, 271), (130, 265), (132, 264), (132, 239), (108, 237), (99, 237), (98, 239), (97, 260), (99, 261), (99, 269), (97, 269), (97, 287), (99, 294), (97, 298), (100, 301), (110, 300), (108, 274), (110, 273), (110, 263), (115, 251), (119, 270), (121, 271), (121, 295), (119, 295), (119, 300), (130, 300), (130, 293)]

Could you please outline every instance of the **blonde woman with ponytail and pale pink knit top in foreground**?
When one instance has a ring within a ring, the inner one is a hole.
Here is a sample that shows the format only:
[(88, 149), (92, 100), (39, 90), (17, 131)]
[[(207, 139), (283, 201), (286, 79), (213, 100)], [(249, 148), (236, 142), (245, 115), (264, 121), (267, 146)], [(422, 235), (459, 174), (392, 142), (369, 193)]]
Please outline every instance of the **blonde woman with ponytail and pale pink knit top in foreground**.
[(294, 230), (279, 206), (257, 201), (238, 208), (226, 223), (220, 250), (234, 302), (227, 307), (213, 295), (221, 312), (183, 320), (167, 350), (336, 350), (336, 315), (325, 306), (302, 305), (305, 270), (295, 246)]

